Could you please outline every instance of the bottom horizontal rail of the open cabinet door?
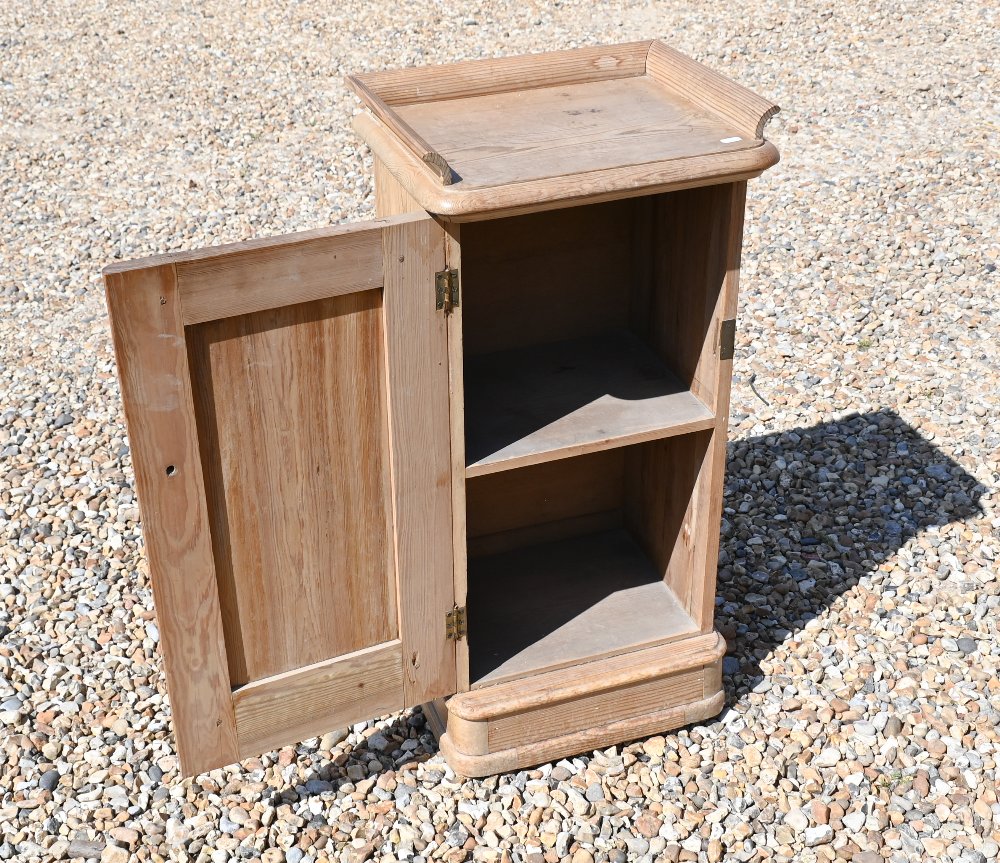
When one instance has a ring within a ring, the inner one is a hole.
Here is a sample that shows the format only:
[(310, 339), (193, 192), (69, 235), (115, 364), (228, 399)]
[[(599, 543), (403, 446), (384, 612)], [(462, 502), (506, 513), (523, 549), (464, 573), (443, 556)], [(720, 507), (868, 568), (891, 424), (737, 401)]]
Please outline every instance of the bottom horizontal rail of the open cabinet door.
[(399, 641), (376, 644), (250, 683), (233, 693), (240, 755), (249, 758), (402, 710)]

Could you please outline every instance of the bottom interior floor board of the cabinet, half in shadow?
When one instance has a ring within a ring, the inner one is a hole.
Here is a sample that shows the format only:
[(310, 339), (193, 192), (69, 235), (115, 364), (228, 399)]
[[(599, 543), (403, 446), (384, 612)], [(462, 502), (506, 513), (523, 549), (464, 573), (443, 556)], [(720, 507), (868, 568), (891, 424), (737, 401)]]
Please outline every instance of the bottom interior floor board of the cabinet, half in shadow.
[(472, 558), (468, 607), (474, 688), (698, 631), (623, 529)]

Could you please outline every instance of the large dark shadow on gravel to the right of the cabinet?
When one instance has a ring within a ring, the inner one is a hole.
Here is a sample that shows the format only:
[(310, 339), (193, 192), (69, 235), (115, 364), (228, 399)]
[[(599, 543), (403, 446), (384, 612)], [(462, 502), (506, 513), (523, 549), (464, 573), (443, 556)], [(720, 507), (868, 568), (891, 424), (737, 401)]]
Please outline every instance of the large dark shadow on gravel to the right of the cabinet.
[(892, 411), (732, 442), (716, 607), (728, 701), (737, 664), (738, 691), (755, 686), (791, 632), (924, 529), (980, 515), (985, 491)]

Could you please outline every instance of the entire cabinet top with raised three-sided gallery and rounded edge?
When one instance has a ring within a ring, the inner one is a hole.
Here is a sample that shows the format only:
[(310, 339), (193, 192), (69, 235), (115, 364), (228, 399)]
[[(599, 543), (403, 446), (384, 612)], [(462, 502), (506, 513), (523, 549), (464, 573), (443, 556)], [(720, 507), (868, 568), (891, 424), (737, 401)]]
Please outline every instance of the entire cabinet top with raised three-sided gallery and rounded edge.
[(347, 80), (375, 154), (458, 221), (743, 180), (778, 161), (763, 137), (777, 105), (659, 41)]

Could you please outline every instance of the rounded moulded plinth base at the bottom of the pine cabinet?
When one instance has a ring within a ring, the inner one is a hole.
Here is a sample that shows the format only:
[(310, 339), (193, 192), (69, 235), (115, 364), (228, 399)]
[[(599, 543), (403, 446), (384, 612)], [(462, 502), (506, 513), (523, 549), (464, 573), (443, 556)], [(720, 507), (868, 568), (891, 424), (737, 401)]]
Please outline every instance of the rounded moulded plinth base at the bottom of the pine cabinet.
[(520, 770), (715, 716), (717, 633), (460, 693), (424, 706), (457, 773)]

